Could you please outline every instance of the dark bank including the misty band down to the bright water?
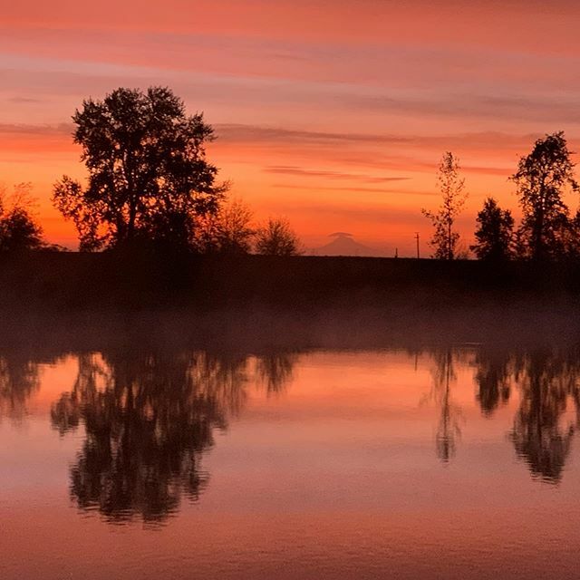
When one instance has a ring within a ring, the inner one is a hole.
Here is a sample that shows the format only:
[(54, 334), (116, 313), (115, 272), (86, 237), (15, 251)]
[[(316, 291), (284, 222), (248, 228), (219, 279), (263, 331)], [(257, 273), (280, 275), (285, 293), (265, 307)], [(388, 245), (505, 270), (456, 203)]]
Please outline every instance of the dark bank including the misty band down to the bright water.
[(0, 347), (580, 343), (578, 266), (37, 253), (0, 261)]

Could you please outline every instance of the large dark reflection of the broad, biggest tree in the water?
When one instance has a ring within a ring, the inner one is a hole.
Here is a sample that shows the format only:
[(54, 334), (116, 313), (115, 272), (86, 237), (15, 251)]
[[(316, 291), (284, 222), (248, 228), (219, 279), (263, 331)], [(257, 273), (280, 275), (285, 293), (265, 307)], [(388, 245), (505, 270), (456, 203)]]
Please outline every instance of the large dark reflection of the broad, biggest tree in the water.
[[(276, 373), (272, 381), (278, 381)], [(216, 430), (247, 398), (247, 357), (138, 353), (79, 357), (71, 392), (53, 404), (62, 434), (82, 422), (86, 439), (71, 468), (71, 496), (112, 523), (164, 521), (180, 499), (208, 485), (201, 467)]]

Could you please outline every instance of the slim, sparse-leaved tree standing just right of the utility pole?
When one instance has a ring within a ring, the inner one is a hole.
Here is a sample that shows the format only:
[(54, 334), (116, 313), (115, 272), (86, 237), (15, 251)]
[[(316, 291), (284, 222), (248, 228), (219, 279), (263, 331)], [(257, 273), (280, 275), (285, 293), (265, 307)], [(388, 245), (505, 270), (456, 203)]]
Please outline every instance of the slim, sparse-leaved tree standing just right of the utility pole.
[(440, 260), (453, 260), (458, 257), (459, 232), (454, 229), (455, 220), (465, 205), (465, 179), (459, 175), (459, 160), (453, 153), (446, 152), (440, 163), (437, 177), (442, 202), (436, 212), (421, 209), (430, 218), (435, 231), (430, 246), (435, 249), (434, 257)]

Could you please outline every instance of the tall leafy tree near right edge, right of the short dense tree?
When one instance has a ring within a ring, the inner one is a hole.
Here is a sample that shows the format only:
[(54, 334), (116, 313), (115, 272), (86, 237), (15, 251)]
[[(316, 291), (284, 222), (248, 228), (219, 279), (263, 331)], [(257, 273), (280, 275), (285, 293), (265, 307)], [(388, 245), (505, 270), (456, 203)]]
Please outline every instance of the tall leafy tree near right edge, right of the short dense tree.
[(517, 185), (523, 209), (521, 238), (527, 256), (535, 260), (563, 253), (562, 235), (568, 224), (565, 188), (576, 191), (574, 163), (564, 131), (536, 140), (534, 149), (519, 160), (511, 180)]

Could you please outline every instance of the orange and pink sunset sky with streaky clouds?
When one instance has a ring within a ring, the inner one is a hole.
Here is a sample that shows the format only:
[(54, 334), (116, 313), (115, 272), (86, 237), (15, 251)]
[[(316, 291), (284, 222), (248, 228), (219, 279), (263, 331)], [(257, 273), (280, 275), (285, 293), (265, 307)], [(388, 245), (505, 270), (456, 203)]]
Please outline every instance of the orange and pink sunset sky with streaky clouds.
[[(507, 178), (546, 133), (580, 150), (580, 4), (573, 0), (0, 0), (0, 182), (51, 206), (83, 179), (71, 116), (120, 86), (171, 87), (218, 140), (208, 159), (256, 220), (304, 247), (346, 231), (379, 253), (429, 253), (444, 151), (460, 161), (467, 247), (484, 198), (516, 215)], [(567, 198), (575, 210), (578, 199)]]

